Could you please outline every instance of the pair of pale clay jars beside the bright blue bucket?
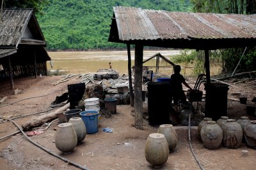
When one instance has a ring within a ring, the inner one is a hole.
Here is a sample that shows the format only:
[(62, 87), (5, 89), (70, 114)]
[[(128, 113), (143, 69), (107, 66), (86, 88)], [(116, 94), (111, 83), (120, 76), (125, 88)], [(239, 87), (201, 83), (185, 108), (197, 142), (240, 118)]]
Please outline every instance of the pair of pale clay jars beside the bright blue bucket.
[(68, 123), (58, 125), (55, 135), (55, 145), (58, 150), (70, 153), (86, 137), (86, 127), (79, 117), (70, 118)]

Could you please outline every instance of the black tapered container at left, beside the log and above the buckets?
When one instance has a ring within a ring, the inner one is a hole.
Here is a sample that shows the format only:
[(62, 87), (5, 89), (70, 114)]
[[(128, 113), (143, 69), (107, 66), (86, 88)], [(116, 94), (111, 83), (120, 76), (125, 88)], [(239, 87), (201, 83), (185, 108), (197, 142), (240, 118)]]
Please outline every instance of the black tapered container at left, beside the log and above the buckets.
[(68, 85), (68, 100), (70, 103), (70, 109), (76, 108), (79, 101), (82, 99), (84, 95), (85, 84), (84, 83), (76, 83), (72, 85)]

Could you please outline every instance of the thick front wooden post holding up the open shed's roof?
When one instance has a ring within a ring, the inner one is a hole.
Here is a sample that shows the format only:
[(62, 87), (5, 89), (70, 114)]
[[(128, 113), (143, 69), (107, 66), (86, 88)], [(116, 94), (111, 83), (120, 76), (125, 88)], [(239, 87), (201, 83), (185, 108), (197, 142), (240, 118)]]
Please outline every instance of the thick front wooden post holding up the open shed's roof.
[(142, 69), (143, 69), (143, 45), (135, 45), (134, 61), (134, 112), (135, 128), (143, 129), (142, 108)]

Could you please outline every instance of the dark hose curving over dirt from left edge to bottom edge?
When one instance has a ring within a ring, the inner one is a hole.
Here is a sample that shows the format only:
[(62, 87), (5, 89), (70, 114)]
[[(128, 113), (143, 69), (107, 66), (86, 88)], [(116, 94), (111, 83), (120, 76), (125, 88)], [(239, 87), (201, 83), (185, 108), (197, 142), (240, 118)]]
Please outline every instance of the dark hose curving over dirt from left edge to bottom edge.
[[(0, 118), (1, 118), (1, 117), (0, 117)], [(51, 152), (51, 150), (48, 150), (48, 149), (45, 148), (44, 146), (42, 146), (42, 145), (40, 145), (40, 144), (38, 144), (38, 143), (35, 143), (33, 140), (31, 140), (30, 138), (28, 138), (28, 136), (25, 134), (25, 132), (22, 131), (22, 129), (19, 127), (19, 125), (16, 124), (16, 122), (14, 122), (13, 120), (10, 120), (10, 119), (8, 119), (8, 118), (2, 118), (2, 119), (6, 119), (6, 120), (9, 120), (9, 121), (13, 122), (13, 124), (15, 124), (15, 125), (17, 126), (17, 128), (18, 128), (18, 129), (20, 130), (20, 132), (25, 136), (25, 138), (28, 139), (29, 142), (31, 142), (31, 143), (33, 143), (34, 145), (36, 145), (38, 148), (40, 148), (40, 149), (44, 150), (45, 152), (47, 152), (47, 153), (53, 155), (54, 157), (57, 157), (58, 159), (61, 159), (61, 160), (65, 161), (65, 162), (68, 162), (68, 164), (71, 164), (72, 166), (76, 166), (76, 167), (78, 167), (78, 168), (80, 168), (80, 169), (83, 169), (83, 170), (88, 170), (86, 167), (81, 166), (81, 165), (79, 165), (79, 164), (76, 164), (75, 162), (72, 162), (71, 160), (65, 159), (65, 158), (61, 157), (60, 155), (57, 155), (56, 153)]]

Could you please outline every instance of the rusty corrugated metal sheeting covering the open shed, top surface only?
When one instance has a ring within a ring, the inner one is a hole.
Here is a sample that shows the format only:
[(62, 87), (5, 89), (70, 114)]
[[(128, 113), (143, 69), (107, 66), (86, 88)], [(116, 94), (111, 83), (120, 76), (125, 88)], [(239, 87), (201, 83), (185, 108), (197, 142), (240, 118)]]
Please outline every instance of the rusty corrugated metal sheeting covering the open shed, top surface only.
[(256, 15), (113, 7), (120, 41), (256, 38)]

